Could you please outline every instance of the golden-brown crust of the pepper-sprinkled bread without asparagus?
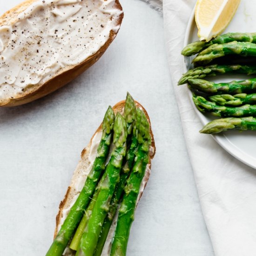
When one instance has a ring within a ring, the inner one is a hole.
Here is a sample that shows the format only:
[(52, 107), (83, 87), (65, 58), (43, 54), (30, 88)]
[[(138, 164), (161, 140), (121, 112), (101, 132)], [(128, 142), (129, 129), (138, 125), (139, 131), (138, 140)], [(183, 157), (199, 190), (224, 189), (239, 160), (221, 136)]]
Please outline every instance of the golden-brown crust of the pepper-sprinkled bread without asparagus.
[[(28, 6), (37, 0), (27, 0), (20, 5), (14, 7), (13, 9), (7, 11), (0, 17), (0, 25), (6, 25), (14, 23), (17, 20), (17, 15), (22, 13)], [(122, 10), (119, 0), (115, 0), (116, 7)], [(121, 25), (123, 19), (123, 13), (120, 14), (117, 25)], [(96, 61), (98, 61), (104, 52), (107, 50), (111, 42), (115, 39), (117, 33), (113, 30), (109, 32), (109, 38), (107, 42), (93, 55), (88, 57), (85, 61), (78, 65), (68, 66), (61, 69), (55, 76), (49, 79), (47, 82), (38, 83), (30, 88), (26, 88), (22, 93), (17, 94), (13, 98), (7, 98), (0, 101), (0, 106), (2, 107), (14, 107), (19, 106), (41, 97), (50, 94), (57, 89), (63, 87), (70, 81), (74, 80), (77, 76), (82, 74), (85, 70), (91, 67)]]

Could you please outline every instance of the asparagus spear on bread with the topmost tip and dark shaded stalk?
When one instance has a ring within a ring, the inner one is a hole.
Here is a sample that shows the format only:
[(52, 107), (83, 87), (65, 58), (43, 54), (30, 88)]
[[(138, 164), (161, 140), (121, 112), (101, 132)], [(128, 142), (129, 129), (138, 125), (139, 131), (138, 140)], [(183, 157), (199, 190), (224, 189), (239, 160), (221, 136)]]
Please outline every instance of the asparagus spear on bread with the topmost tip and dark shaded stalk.
[(98, 240), (97, 247), (94, 251), (94, 256), (101, 256), (101, 252), (103, 250), (104, 244), (106, 242), (106, 239), (108, 237), (109, 229), (112, 225), (113, 219), (115, 217), (115, 213), (118, 207), (118, 203), (120, 201), (121, 195), (123, 194), (123, 190), (128, 178), (128, 175), (130, 174), (130, 170), (132, 169), (134, 160), (135, 160), (135, 153), (138, 149), (138, 140), (136, 136), (132, 136), (134, 122), (136, 117), (136, 106), (135, 101), (133, 100), (132, 96), (130, 94), (127, 94), (126, 98), (126, 105), (124, 108), (124, 118), (127, 123), (128, 128), (128, 139), (127, 141), (131, 140), (131, 145), (126, 152), (126, 163), (122, 167), (121, 175), (120, 175), (120, 181), (118, 182), (114, 195), (112, 197), (112, 200), (110, 202), (110, 207), (108, 211), (108, 215), (106, 216), (102, 229), (101, 229), (101, 235)]

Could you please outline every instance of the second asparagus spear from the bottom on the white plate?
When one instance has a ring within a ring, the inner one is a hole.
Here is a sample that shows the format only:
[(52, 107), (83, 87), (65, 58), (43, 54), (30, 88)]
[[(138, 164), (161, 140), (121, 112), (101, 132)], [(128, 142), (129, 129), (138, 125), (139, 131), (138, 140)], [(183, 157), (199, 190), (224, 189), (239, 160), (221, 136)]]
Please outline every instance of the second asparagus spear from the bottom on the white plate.
[(243, 105), (241, 107), (219, 106), (215, 102), (207, 101), (202, 96), (193, 96), (195, 106), (201, 112), (210, 112), (222, 117), (256, 116), (256, 105)]

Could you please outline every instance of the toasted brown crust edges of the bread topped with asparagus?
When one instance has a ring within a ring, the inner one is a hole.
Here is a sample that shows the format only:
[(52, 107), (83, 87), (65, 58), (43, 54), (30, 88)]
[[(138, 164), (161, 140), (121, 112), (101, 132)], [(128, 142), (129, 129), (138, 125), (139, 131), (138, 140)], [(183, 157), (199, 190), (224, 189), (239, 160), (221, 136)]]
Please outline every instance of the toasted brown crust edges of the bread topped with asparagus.
[[(144, 113), (145, 113), (145, 115), (146, 115), (146, 117), (147, 117), (147, 119), (148, 119), (149, 125), (150, 125), (151, 147), (154, 149), (154, 152), (152, 153), (152, 155), (149, 155), (148, 167), (151, 168), (151, 160), (152, 160), (152, 159), (154, 158), (154, 156), (155, 156), (155, 140), (154, 140), (154, 135), (153, 135), (153, 132), (152, 132), (151, 122), (150, 122), (150, 119), (149, 119), (149, 116), (148, 116), (148, 113), (147, 113), (146, 109), (145, 109), (139, 102), (137, 102), (137, 101), (135, 101), (135, 102), (136, 102), (136, 106), (139, 107), (139, 108), (141, 108), (141, 109), (144, 111)], [(115, 106), (113, 107), (113, 110), (114, 110), (115, 114), (116, 114), (117, 112), (122, 112), (124, 106), (125, 106), (125, 101), (120, 101), (120, 102), (116, 103)], [(99, 126), (99, 128), (95, 131), (94, 135), (95, 135), (96, 133), (98, 133), (99, 131), (101, 131), (101, 127), (102, 127), (102, 123), (101, 123), (101, 125)], [(88, 146), (82, 150), (81, 158), (83, 158), (83, 157), (86, 155), (86, 153), (88, 152), (88, 149), (91, 147), (91, 144), (92, 144), (92, 140), (93, 140), (93, 138), (94, 138), (94, 135), (92, 136), (92, 138), (91, 138), (91, 140), (90, 140)], [(148, 177), (149, 177), (149, 175), (148, 175)], [(147, 178), (148, 178), (148, 177), (147, 177)], [(148, 182), (148, 180), (145, 182), (144, 188), (146, 187), (147, 182)], [(63, 199), (63, 200), (61, 201), (61, 203), (60, 203), (58, 215), (56, 216), (56, 227), (55, 227), (55, 231), (54, 231), (54, 238), (55, 238), (55, 236), (57, 235), (57, 227), (58, 227), (58, 225), (60, 224), (60, 221), (61, 221), (62, 210), (65, 208), (67, 199), (68, 199), (68, 197), (69, 197), (70, 195), (71, 195), (71, 193), (70, 193), (70, 187), (68, 187), (68, 188), (67, 188), (67, 193), (66, 193), (65, 197), (64, 197), (64, 199)], [(142, 194), (141, 194), (141, 195), (142, 195)], [(141, 198), (141, 195), (140, 195), (139, 199)], [(72, 196), (72, 195), (71, 195), (71, 196)]]

